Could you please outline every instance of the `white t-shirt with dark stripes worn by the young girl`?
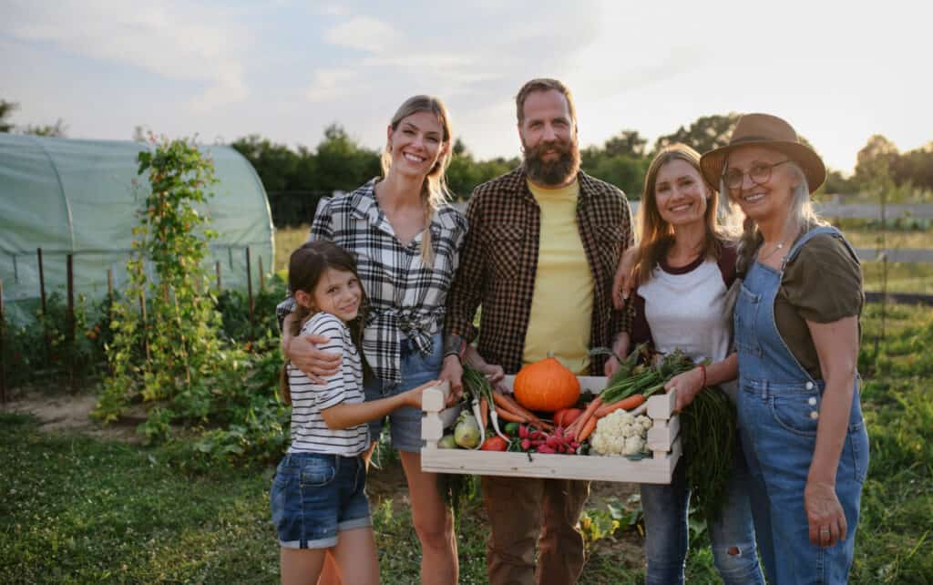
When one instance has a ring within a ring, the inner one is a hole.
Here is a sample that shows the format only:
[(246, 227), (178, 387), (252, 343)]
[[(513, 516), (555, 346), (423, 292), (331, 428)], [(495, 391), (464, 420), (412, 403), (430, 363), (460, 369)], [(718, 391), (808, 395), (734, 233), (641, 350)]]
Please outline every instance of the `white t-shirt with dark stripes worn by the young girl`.
[(369, 428), (356, 425), (332, 430), (327, 428), (321, 411), (338, 404), (363, 402), (363, 368), (359, 352), (350, 337), (350, 329), (330, 313), (316, 313), (301, 327), (301, 335), (321, 335), (329, 338), (318, 345), (325, 352), (343, 356), (341, 369), (325, 378), (325, 383), (312, 383), (301, 370), (288, 364), (288, 388), (292, 398), (291, 446), (288, 453), (336, 453), (356, 455), (369, 446)]

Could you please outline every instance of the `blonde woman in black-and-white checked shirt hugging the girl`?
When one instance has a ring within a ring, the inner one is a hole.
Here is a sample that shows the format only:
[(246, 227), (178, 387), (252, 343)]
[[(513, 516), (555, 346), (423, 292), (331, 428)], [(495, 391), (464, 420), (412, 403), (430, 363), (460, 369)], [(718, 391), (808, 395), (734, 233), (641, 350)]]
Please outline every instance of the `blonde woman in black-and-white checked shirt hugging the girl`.
[[(441, 377), (445, 302), (466, 234), (466, 219), (447, 203), (451, 146), (444, 105), (430, 96), (411, 97), (386, 129), (383, 177), (325, 202), (314, 217), (310, 239), (331, 240), (354, 254), (369, 298), (361, 343), (371, 373), (368, 400)], [(279, 313), (290, 310), (285, 301)], [(285, 355), (312, 380), (336, 372), (341, 361), (315, 342), (321, 341), (283, 336)], [(459, 383), (459, 375), (455, 379)], [(453, 516), (436, 474), (421, 470), (421, 411), (399, 409), (388, 420), (421, 541), (422, 582), (452, 585), (458, 577)], [(369, 425), (372, 441), (383, 422)]]

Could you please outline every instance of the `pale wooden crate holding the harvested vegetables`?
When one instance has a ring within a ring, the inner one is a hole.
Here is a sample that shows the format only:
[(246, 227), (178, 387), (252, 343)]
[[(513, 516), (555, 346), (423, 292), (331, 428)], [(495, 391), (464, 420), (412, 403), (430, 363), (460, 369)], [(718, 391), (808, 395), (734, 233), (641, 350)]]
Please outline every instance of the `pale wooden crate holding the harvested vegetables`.
[[(579, 376), (583, 392), (598, 394), (606, 378)], [(506, 376), (508, 387), (514, 376)], [(653, 421), (648, 430), (648, 450), (654, 456), (631, 461), (622, 456), (566, 455), (548, 453), (500, 453), (467, 449), (439, 449), (444, 429), (453, 424), (459, 408), (444, 409), (449, 387), (425, 390), (422, 398), (424, 419), (421, 437), (426, 446), (421, 452), (421, 467), (437, 473), (502, 475), (569, 480), (629, 481), (635, 483), (670, 483), (680, 458), (680, 419), (674, 414), (673, 392), (648, 398), (646, 413)]]

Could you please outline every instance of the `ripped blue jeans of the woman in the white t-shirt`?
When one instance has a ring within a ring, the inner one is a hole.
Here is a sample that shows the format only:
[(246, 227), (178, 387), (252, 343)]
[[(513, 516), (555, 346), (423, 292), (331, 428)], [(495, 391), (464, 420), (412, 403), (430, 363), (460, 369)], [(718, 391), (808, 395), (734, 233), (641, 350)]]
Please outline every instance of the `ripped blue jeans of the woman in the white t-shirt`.
[[(764, 585), (748, 501), (750, 476), (741, 450), (733, 453), (728, 500), (707, 522), (713, 562), (726, 585)], [(645, 514), (646, 585), (682, 585), (687, 561), (689, 488), (681, 460), (670, 484), (641, 484)]]

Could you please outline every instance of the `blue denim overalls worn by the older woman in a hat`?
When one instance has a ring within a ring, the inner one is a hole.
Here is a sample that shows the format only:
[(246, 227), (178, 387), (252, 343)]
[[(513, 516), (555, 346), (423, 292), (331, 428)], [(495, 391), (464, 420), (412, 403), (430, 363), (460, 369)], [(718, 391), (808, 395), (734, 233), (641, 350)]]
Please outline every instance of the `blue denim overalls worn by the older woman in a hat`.
[[(836, 494), (848, 532), (834, 547), (812, 544), (803, 488), (816, 444), (824, 382), (812, 378), (787, 348), (774, 323), (774, 299), (787, 262), (822, 233), (842, 238), (834, 228), (815, 228), (791, 247), (780, 271), (754, 263), (735, 304), (739, 426), (755, 486), (751, 501), (759, 556), (768, 580), (775, 585), (846, 582), (862, 483), (868, 473), (869, 439), (856, 377), (848, 432), (836, 471)], [(855, 256), (852, 246), (845, 244)]]

